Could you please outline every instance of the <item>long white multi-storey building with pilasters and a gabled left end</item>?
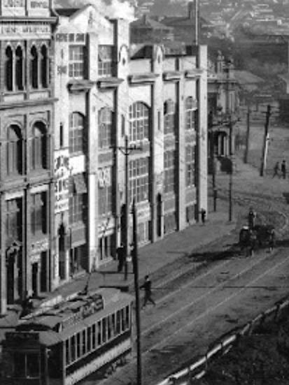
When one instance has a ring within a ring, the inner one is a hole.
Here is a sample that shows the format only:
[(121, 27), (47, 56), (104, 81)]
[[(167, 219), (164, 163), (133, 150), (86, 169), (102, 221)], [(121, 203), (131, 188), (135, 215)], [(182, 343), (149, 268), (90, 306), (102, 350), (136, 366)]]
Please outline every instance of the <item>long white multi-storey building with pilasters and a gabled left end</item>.
[[(109, 261), (129, 202), (140, 244), (180, 231), (206, 209), (206, 47), (171, 55), (129, 47), (129, 24), (92, 6), (56, 10), (54, 286)], [(60, 170), (60, 171), (59, 171)]]

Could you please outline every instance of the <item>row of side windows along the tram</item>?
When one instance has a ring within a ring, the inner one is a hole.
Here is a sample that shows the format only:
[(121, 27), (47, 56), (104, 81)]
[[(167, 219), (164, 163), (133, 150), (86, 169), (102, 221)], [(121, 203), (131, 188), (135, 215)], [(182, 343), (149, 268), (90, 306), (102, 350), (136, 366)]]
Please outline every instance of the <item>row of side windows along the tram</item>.
[(66, 365), (118, 337), (130, 328), (129, 306), (104, 317), (96, 324), (72, 335), (65, 342)]

